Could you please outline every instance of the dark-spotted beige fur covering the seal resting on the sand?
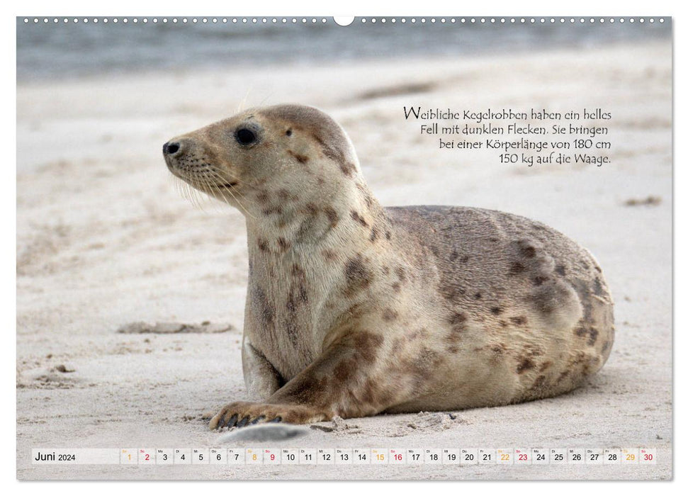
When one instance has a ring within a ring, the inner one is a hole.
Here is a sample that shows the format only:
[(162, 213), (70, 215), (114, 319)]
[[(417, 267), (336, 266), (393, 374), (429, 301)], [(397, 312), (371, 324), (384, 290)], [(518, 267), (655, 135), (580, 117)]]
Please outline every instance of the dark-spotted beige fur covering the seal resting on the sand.
[[(256, 142), (236, 142), (240, 128)], [(381, 207), (315, 108), (256, 108), (174, 142), (170, 171), (247, 218), (256, 401), (211, 427), (546, 398), (611, 352), (611, 296), (587, 250), (494, 210)]]

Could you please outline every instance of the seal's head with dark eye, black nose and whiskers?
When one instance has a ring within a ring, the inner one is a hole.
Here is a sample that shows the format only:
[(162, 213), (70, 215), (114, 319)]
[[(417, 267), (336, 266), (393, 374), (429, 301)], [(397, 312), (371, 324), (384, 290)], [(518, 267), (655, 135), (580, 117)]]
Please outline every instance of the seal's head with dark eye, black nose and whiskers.
[(249, 109), (174, 137), (162, 152), (172, 174), (252, 215), (305, 208), (360, 175), (342, 127), (301, 105)]

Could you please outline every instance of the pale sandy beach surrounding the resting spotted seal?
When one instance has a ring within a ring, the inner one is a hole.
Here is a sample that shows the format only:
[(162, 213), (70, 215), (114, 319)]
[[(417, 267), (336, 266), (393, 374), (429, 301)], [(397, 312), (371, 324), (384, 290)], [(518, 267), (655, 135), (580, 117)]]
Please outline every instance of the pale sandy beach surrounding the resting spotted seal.
[[(671, 81), (666, 40), (18, 84), (17, 477), (672, 478)], [(246, 394), (246, 227), (226, 205), (191, 205), (161, 149), (242, 106), (286, 102), (317, 106), (342, 124), (383, 205), (504, 210), (590, 249), (614, 295), (616, 342), (590, 384), (558, 398), (323, 422), (303, 439), (264, 447), (647, 447), (657, 463), (32, 466), (38, 447), (220, 446), (201, 415)], [(529, 168), (484, 150), (439, 150), (405, 120), (411, 105), (604, 108), (613, 115), (611, 163)], [(133, 322), (197, 327), (118, 332)]]

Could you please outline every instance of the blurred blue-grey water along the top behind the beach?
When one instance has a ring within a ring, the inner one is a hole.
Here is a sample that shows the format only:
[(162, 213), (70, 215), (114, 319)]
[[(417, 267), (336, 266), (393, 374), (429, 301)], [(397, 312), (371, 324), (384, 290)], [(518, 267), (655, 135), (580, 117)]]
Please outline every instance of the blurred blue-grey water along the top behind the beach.
[[(319, 18), (320, 19), (320, 18)], [(307, 24), (97, 24), (32, 22), (17, 18), (17, 79), (35, 81), (122, 74), (175, 67), (231, 67), (279, 62), (317, 64), (354, 59), (458, 56), (556, 47), (592, 47), (669, 38), (664, 23), (589, 22), (393, 24), (357, 18), (351, 26)]]

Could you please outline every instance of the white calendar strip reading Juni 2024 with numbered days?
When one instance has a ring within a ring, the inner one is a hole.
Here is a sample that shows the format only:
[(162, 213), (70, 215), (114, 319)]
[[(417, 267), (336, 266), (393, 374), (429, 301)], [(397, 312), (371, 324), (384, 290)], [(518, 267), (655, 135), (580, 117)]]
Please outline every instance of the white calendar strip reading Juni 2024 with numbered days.
[(78, 448), (34, 465), (655, 465), (655, 448)]

